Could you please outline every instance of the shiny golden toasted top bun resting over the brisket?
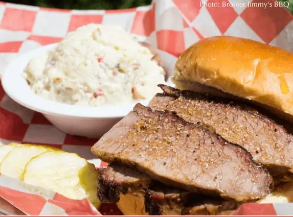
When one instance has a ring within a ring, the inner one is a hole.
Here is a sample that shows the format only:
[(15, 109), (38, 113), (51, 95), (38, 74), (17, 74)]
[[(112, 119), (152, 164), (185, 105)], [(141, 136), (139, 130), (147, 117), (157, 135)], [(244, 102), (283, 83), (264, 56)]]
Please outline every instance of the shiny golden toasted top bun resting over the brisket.
[(179, 89), (212, 87), (293, 120), (293, 54), (275, 46), (232, 36), (203, 39), (179, 57), (172, 81)]

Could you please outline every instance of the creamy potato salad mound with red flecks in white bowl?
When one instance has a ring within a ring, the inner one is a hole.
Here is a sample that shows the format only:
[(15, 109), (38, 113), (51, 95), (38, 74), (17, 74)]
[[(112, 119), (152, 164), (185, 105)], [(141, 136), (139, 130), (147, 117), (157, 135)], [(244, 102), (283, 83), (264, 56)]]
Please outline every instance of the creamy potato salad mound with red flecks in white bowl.
[(89, 24), (34, 57), (24, 77), (44, 98), (72, 105), (117, 105), (152, 98), (165, 83), (153, 54), (119, 26)]

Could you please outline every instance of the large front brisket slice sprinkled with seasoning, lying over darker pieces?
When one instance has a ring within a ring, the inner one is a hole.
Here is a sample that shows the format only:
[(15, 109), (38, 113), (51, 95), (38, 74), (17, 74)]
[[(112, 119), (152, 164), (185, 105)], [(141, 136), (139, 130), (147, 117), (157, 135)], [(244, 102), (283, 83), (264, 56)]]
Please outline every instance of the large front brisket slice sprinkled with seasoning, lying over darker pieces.
[(108, 163), (124, 163), (166, 185), (205, 195), (250, 201), (272, 188), (272, 177), (242, 147), (205, 126), (141, 104), (92, 152)]

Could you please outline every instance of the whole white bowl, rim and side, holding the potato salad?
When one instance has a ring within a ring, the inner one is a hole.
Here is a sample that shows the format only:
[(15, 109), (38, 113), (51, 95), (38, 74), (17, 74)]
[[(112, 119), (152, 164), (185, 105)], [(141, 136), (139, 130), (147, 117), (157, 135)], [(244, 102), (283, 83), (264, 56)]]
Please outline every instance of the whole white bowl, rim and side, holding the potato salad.
[[(75, 106), (57, 103), (39, 97), (29, 87), (22, 73), (29, 60), (48, 50), (56, 44), (39, 47), (12, 61), (4, 71), (1, 81), (5, 92), (15, 102), (29, 109), (42, 113), (53, 125), (67, 134), (99, 138), (124, 117), (137, 102), (121, 106)], [(164, 65), (173, 74), (176, 58), (166, 52), (157, 50)], [(140, 101), (147, 105), (150, 99)]]

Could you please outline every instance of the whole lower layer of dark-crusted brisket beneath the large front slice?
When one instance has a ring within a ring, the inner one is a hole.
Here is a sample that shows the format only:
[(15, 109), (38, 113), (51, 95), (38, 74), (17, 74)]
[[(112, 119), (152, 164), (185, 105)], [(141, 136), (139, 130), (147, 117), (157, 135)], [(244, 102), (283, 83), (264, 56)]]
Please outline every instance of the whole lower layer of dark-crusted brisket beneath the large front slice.
[(151, 182), (150, 177), (127, 166), (110, 164), (100, 168), (98, 198), (101, 202), (116, 203), (121, 194), (144, 197), (145, 211), (150, 215), (213, 215), (240, 205)]

